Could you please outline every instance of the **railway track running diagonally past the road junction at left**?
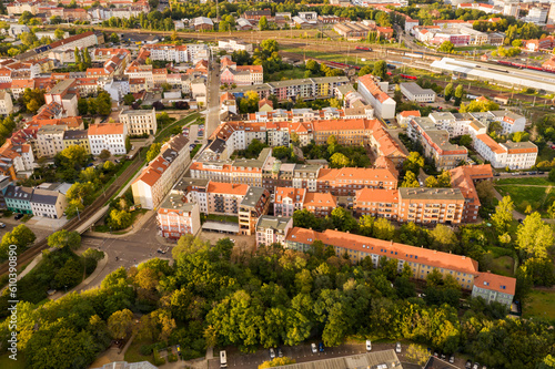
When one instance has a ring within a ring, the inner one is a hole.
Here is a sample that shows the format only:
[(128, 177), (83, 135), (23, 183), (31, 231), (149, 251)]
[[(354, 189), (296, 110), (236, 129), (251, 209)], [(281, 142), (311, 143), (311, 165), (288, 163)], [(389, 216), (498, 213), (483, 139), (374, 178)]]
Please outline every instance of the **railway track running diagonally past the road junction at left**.
[[(80, 219), (74, 217), (69, 221), (62, 228), (67, 230), (75, 230), (81, 225), (83, 225), (91, 215), (97, 213), (102, 208), (107, 201), (118, 193), (120, 187), (142, 166), (143, 162), (138, 157), (133, 163), (123, 171), (123, 173), (107, 188), (104, 196), (98, 197), (94, 202), (87, 206), (82, 213), (80, 213)], [(18, 265), (22, 266), (30, 263), (39, 253), (48, 248), (47, 238), (43, 238), (36, 243), (33, 246), (24, 250), (18, 256)], [(0, 265), (0, 275), (7, 274), (9, 270), (8, 262)]]

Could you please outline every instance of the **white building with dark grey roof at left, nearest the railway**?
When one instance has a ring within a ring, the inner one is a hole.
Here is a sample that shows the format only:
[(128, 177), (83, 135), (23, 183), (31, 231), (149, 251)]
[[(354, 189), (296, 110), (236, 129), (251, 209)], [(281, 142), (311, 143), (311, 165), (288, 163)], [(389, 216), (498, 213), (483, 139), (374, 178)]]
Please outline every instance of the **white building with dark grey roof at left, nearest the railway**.
[[(65, 188), (65, 189), (63, 189)], [(37, 186), (31, 196), (31, 209), (34, 216), (59, 219), (68, 206), (67, 185), (43, 183)]]

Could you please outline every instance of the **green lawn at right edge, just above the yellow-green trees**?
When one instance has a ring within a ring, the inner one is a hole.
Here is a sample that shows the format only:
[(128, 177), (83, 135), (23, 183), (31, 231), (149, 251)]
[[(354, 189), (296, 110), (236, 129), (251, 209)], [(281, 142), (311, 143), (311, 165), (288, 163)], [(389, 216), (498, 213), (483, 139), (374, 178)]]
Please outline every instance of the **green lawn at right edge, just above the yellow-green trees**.
[(526, 207), (531, 205), (533, 211), (542, 214), (542, 217), (548, 217), (546, 213), (547, 207), (555, 201), (555, 193), (552, 186), (532, 187), (496, 185), (495, 188), (502, 196), (511, 196), (515, 203), (516, 211), (523, 214)]

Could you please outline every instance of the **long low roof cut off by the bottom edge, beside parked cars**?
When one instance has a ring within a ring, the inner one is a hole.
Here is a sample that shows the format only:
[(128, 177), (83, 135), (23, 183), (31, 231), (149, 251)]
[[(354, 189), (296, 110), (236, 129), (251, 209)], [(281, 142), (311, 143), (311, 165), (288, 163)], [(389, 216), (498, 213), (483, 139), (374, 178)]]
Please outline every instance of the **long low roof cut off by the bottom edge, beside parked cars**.
[[(379, 367), (381, 366), (381, 367)], [(344, 356), (317, 361), (299, 362), (282, 366), (283, 369), (376, 369), (403, 368), (395, 351), (384, 350), (360, 355)]]

